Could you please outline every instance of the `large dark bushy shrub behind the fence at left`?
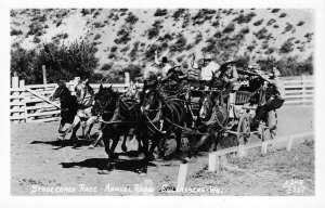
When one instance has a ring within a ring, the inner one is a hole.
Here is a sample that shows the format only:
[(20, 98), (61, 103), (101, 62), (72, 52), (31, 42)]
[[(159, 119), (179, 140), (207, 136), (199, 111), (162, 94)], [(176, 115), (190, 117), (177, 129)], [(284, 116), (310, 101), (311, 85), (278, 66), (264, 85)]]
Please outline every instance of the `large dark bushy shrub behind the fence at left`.
[(38, 51), (15, 49), (11, 51), (11, 72), (17, 72), (27, 84), (42, 83), (42, 65), (49, 66), (49, 82), (70, 80), (81, 75), (91, 76), (99, 62), (96, 51), (93, 44), (84, 41), (68, 46), (50, 42)]

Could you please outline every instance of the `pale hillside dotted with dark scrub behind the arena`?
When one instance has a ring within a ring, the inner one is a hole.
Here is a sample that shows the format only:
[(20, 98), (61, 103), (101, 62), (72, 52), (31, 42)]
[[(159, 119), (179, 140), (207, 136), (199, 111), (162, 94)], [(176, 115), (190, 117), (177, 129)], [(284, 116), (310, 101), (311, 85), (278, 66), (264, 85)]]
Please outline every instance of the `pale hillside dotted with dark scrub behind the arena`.
[(312, 10), (11, 11), (13, 48), (20, 44), (35, 49), (42, 42), (88, 40), (99, 49), (96, 72), (131, 63), (153, 65), (156, 49), (160, 56), (167, 55), (184, 68), (192, 53), (198, 58), (212, 53), (220, 63), (239, 56), (248, 56), (250, 63), (288, 56), (304, 61), (314, 51), (313, 24)]

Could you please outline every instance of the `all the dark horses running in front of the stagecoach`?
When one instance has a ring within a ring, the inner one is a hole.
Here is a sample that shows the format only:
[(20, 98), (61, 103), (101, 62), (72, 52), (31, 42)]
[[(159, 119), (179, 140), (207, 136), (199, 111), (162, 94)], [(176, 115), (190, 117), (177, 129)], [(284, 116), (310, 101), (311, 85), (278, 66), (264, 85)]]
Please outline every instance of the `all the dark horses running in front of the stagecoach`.
[[(80, 122), (73, 125), (78, 110), (77, 99), (63, 81), (58, 82), (52, 100), (61, 101), (61, 123), (58, 131), (62, 138), (73, 131), (72, 142), (77, 143), (76, 132)], [(92, 106), (93, 116), (101, 123), (95, 145), (103, 140), (105, 152), (108, 155), (107, 170), (113, 168), (113, 161), (117, 158), (115, 150), (123, 136), (121, 150), (127, 152), (127, 142), (138, 140), (139, 152), (145, 156), (145, 161), (155, 159), (154, 152), (168, 158), (166, 141), (176, 139), (174, 154), (182, 153), (183, 162), (188, 162), (207, 141), (212, 141), (214, 148), (224, 131), (223, 126), (227, 120), (226, 107), (222, 104), (222, 93), (218, 91), (202, 92), (197, 118), (194, 119), (190, 88), (180, 88), (177, 93), (170, 94), (164, 90), (164, 83), (155, 80), (153, 84), (145, 84), (142, 90), (131, 86), (127, 92), (118, 92), (112, 87), (104, 88), (102, 84), (94, 95)], [(193, 123), (195, 122), (195, 128)], [(63, 130), (65, 123), (72, 127)], [(188, 133), (197, 139), (184, 152), (182, 135)]]

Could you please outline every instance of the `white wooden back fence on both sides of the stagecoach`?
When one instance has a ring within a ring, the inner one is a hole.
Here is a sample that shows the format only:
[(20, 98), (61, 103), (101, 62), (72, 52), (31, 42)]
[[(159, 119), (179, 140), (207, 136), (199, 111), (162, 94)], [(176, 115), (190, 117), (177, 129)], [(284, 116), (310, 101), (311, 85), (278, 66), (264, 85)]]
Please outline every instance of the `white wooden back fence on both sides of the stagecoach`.
[[(104, 87), (123, 91), (130, 87), (128, 75), (125, 83), (104, 83)], [(78, 78), (67, 82), (67, 87), (74, 91)], [(286, 102), (284, 106), (308, 106), (313, 104), (314, 87), (312, 77), (295, 77), (283, 79)], [(90, 84), (95, 91), (99, 83)], [(10, 119), (18, 122), (43, 122), (60, 118), (60, 103), (51, 102), (49, 98), (53, 94), (56, 83), (25, 86), (24, 80), (18, 77), (12, 78), (10, 89)]]

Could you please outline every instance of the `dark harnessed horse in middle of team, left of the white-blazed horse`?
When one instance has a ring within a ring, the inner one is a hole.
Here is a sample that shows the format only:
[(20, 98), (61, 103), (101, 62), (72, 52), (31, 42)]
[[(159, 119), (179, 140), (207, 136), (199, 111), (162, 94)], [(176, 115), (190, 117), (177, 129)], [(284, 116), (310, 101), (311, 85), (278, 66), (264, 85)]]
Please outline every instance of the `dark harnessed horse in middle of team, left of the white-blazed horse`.
[(185, 126), (186, 107), (180, 99), (170, 99), (160, 91), (156, 80), (152, 88), (146, 89), (141, 105), (144, 122), (141, 126), (144, 150), (148, 150), (148, 140), (152, 145), (146, 151), (146, 159), (153, 160), (153, 152), (158, 147), (159, 154), (164, 156), (162, 145), (171, 133), (177, 140), (177, 153), (180, 152), (182, 127)]

